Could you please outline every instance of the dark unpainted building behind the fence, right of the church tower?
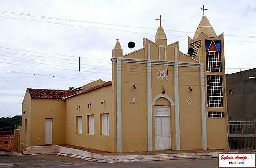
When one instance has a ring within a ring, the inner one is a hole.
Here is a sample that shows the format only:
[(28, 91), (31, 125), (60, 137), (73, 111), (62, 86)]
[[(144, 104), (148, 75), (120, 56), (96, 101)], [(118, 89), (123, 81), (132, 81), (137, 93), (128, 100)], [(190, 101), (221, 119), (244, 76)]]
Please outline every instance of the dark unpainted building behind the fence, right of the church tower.
[(256, 68), (227, 74), (226, 82), (229, 120), (256, 119)]

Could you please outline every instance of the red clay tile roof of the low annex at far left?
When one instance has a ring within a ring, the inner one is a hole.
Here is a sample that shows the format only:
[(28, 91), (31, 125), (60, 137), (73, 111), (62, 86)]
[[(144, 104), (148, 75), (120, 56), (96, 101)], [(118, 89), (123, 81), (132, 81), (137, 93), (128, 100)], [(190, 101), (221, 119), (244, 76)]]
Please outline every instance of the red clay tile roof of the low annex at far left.
[(31, 89), (27, 88), (32, 99), (62, 99), (75, 94), (73, 90)]

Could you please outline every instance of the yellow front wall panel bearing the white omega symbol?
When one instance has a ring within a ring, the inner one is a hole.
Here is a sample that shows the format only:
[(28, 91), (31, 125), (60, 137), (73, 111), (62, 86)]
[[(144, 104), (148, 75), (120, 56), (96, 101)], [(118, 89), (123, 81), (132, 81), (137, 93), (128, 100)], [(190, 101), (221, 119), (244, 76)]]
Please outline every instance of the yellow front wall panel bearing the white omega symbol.
[[(178, 69), (181, 150), (202, 149), (200, 68)], [(187, 104), (188, 99), (192, 105)]]

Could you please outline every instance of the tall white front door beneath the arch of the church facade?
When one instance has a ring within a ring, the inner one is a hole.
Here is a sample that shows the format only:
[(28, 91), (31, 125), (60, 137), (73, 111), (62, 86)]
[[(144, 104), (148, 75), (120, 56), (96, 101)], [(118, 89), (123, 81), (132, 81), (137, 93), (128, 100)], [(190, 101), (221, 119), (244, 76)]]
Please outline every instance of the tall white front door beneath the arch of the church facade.
[(155, 107), (155, 150), (171, 149), (171, 120), (168, 106)]

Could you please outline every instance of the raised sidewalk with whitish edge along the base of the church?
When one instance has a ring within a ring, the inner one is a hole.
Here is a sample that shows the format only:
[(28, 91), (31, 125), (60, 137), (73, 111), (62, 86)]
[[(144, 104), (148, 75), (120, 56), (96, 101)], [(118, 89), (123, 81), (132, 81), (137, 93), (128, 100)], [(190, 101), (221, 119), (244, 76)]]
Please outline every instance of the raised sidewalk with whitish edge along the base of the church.
[(59, 145), (58, 155), (71, 156), (87, 161), (120, 163), (134, 161), (160, 161), (173, 159), (216, 158), (219, 153), (238, 153), (236, 150), (161, 150), (153, 152), (110, 153), (73, 145)]

